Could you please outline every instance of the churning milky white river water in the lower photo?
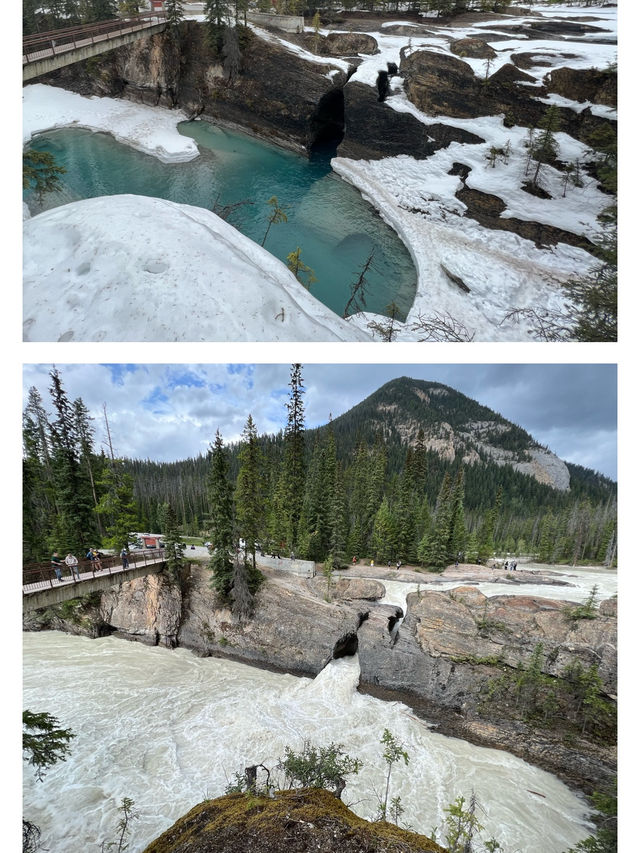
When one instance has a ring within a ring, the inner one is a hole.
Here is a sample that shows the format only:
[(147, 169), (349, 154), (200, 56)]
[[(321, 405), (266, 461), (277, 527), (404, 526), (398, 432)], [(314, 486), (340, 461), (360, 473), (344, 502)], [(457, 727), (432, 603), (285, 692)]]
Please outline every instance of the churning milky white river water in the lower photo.
[(356, 692), (357, 657), (317, 678), (296, 678), (185, 649), (58, 632), (24, 635), (24, 707), (73, 729), (71, 754), (43, 782), (24, 774), (24, 815), (51, 853), (85, 853), (113, 840), (117, 806), (135, 800), (130, 853), (205, 799), (224, 792), (246, 765), (273, 766), (284, 747), (344, 744), (364, 767), (343, 800), (372, 817), (384, 786), (385, 728), (410, 762), (392, 774), (403, 820), (429, 834), (443, 809), (476, 791), (486, 837), (506, 853), (561, 853), (588, 833), (585, 804), (549, 773), (506, 752), (430, 731), (399, 702)]

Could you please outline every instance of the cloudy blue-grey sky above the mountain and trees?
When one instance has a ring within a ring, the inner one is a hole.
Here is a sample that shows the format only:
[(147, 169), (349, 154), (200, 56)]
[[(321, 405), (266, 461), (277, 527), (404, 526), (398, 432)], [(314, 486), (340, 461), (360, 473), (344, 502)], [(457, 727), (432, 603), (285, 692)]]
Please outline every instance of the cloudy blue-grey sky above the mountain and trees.
[[(205, 453), (219, 429), (237, 440), (251, 414), (259, 432), (286, 422), (289, 364), (59, 364), (71, 398), (82, 397), (104, 440), (106, 403), (115, 452), (154, 460)], [(51, 365), (24, 366), (50, 407)], [(306, 364), (307, 427), (326, 423), (398, 376), (443, 382), (526, 429), (562, 459), (616, 479), (615, 365)]]

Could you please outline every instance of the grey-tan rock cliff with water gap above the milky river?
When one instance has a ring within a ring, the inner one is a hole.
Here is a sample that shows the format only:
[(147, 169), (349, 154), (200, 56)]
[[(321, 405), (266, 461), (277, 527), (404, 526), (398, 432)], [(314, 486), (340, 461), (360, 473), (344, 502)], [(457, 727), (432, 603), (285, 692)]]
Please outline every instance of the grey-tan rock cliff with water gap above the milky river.
[(379, 603), (381, 581), (342, 577), (328, 596), (324, 578), (265, 574), (253, 618), (242, 624), (217, 602), (208, 570), (193, 566), (182, 590), (149, 576), (81, 601), (73, 619), (59, 609), (38, 611), (24, 627), (92, 637), (115, 632), (298, 675), (315, 676), (331, 660), (357, 653), (361, 691), (405, 702), (443, 734), (505, 749), (589, 793), (615, 774), (614, 723), (609, 734), (581, 733), (562, 719), (560, 704), (547, 719), (527, 718), (509, 687), (537, 659), (540, 684), (562, 703), (569, 700), (554, 685), (564, 684), (567, 672), (592, 671), (615, 717), (615, 599), (602, 602), (597, 618), (573, 621), (566, 602), (487, 598), (463, 584), (410, 594), (398, 627), (402, 610)]

